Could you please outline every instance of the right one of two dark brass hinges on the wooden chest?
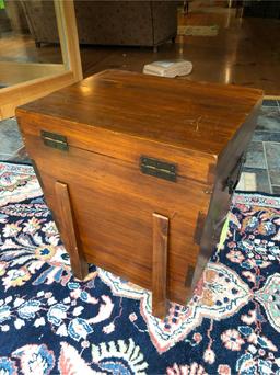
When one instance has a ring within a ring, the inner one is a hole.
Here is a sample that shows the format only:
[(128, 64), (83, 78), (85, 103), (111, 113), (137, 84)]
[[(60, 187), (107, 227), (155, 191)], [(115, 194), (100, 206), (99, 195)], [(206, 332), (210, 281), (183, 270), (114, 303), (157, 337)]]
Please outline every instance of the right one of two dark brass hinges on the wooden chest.
[(144, 174), (153, 175), (159, 179), (173, 182), (176, 182), (177, 180), (177, 166), (166, 161), (141, 156), (140, 170)]

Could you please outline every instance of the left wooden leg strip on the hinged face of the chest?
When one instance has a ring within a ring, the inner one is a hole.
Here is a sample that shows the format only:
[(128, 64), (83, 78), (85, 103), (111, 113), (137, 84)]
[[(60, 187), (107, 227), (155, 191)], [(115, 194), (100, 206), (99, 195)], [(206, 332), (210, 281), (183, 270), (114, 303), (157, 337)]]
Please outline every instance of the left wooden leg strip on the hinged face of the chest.
[(61, 237), (70, 255), (72, 272), (77, 279), (83, 280), (89, 273), (89, 265), (81, 249), (80, 237), (74, 220), (68, 185), (57, 181), (55, 190), (58, 204)]

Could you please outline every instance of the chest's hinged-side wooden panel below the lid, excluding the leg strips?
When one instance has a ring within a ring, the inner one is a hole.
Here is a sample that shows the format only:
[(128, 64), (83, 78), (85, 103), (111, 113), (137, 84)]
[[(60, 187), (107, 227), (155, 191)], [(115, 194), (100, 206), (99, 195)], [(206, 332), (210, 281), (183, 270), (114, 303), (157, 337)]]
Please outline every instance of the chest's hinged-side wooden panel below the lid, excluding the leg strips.
[(207, 215), (210, 195), (199, 181), (176, 182), (144, 174), (135, 163), (69, 147), (46, 146), (27, 135), (48, 205), (59, 225), (55, 183), (69, 186), (86, 261), (151, 288), (152, 215), (170, 219), (167, 294), (184, 304), (199, 254), (197, 221)]

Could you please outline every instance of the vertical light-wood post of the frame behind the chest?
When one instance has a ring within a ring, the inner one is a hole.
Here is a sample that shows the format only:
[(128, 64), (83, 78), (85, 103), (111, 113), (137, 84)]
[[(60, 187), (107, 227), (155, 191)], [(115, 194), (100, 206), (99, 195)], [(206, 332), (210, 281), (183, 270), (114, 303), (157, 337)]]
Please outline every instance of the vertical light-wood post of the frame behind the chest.
[(54, 0), (60, 48), (66, 70), (73, 72), (74, 79), (83, 79), (82, 63), (73, 0)]

